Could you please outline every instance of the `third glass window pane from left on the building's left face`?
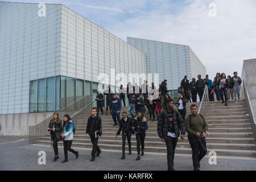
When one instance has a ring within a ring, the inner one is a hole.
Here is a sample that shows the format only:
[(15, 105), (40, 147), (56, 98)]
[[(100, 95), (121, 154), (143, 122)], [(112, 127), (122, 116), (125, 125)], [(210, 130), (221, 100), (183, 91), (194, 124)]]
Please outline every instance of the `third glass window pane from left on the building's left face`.
[(54, 111), (55, 77), (46, 79), (46, 111)]

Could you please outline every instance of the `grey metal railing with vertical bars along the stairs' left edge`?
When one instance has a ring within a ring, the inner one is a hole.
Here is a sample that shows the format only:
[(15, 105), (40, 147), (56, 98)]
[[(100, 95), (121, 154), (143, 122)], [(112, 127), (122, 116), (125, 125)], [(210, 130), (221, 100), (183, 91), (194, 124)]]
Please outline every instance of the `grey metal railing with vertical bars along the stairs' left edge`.
[[(72, 116), (77, 113), (77, 110), (80, 111), (82, 109), (85, 109), (96, 101), (90, 102), (89, 104), (86, 104), (86, 102), (88, 102), (88, 96), (84, 96), (79, 100), (73, 102), (71, 105), (64, 107), (58, 112), (59, 118), (63, 118), (65, 114), (69, 114)], [(85, 104), (86, 106), (84, 106)], [(48, 134), (47, 127), (52, 118), (53, 116), (51, 115), (37, 125), (32, 125), (28, 127), (29, 144), (35, 144), (37, 140), (40, 140)]]

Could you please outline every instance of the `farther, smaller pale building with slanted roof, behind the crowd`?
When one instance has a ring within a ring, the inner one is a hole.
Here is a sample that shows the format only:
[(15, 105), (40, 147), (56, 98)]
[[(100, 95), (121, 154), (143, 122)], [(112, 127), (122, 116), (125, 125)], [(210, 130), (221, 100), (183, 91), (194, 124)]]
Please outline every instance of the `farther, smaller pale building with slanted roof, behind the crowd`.
[[(189, 81), (202, 78), (206, 69), (189, 46), (127, 37), (127, 43), (146, 53), (147, 72), (159, 73), (159, 84), (166, 79), (171, 96), (177, 98), (177, 88), (186, 75)], [(150, 84), (150, 83), (149, 83)]]

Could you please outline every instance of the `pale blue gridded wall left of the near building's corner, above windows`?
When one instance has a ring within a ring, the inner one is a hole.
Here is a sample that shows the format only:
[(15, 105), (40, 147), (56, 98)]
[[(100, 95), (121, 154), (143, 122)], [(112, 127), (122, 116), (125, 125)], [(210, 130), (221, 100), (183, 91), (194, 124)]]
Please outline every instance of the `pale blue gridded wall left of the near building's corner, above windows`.
[(28, 113), (30, 80), (60, 74), (60, 10), (0, 2), (0, 114)]

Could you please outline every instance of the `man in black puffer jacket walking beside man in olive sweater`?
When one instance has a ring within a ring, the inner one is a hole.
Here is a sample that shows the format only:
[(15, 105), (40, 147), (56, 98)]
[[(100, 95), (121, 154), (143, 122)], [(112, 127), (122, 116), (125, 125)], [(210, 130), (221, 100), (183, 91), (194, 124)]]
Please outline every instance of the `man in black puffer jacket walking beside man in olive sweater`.
[(166, 143), (168, 171), (174, 171), (177, 139), (181, 131), (180, 138), (184, 140), (186, 130), (181, 114), (174, 110), (174, 101), (167, 99), (166, 105), (167, 108), (162, 110), (158, 117), (158, 136)]

